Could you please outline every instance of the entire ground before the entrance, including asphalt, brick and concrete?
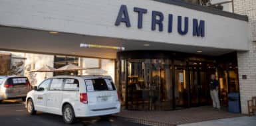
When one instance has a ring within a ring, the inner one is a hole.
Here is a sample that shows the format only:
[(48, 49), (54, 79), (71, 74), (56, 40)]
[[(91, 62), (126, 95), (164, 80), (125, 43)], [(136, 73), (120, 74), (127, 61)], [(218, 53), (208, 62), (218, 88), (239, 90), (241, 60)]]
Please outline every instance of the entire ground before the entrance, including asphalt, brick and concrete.
[[(0, 103), (1, 126), (27, 125), (66, 125), (59, 115), (38, 112), (29, 115), (25, 104), (21, 100), (7, 100)], [(211, 107), (193, 107), (175, 111), (127, 111), (110, 117), (108, 120), (99, 117), (78, 119), (74, 126), (255, 126), (256, 116), (248, 117), (241, 114), (228, 113), (225, 110), (211, 109)]]

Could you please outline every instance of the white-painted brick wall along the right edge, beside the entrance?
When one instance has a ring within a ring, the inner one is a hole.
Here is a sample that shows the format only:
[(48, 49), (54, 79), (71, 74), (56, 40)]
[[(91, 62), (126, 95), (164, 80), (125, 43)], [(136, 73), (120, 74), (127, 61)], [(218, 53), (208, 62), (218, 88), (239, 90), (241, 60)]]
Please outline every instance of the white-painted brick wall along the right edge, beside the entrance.
[[(256, 1), (234, 0), (235, 13), (249, 17), (249, 51), (237, 52), (241, 111), (248, 113), (247, 100), (256, 95)], [(247, 80), (241, 78), (247, 75)]]

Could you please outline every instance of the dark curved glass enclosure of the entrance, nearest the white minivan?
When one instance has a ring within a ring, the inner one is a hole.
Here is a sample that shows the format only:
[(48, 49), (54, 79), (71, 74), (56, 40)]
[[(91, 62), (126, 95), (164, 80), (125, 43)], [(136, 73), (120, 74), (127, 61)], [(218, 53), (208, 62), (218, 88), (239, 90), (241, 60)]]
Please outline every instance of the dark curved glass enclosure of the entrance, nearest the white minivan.
[(172, 109), (172, 70), (170, 60), (128, 60), (127, 109)]

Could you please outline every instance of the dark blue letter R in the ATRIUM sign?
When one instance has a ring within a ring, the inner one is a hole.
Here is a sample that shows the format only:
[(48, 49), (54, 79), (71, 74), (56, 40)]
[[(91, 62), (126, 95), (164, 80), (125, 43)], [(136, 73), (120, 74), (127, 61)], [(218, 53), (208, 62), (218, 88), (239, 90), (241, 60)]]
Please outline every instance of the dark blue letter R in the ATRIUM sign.
[[(156, 19), (156, 17), (159, 17), (159, 19)], [(162, 12), (159, 11), (152, 11), (152, 31), (156, 30), (156, 24), (159, 26), (159, 31), (163, 31), (163, 21), (164, 21), (164, 15)]]

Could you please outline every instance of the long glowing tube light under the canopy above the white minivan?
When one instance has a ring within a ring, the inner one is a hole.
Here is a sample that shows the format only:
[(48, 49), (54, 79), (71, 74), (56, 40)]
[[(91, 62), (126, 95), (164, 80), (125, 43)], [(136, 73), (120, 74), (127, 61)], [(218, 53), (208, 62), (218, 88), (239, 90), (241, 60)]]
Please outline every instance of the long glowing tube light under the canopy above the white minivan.
[(99, 45), (99, 44), (84, 44), (80, 43), (80, 48), (107, 48), (112, 50), (125, 50), (122, 46), (105, 46), (105, 45)]

